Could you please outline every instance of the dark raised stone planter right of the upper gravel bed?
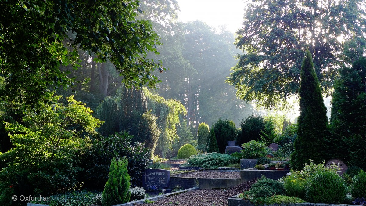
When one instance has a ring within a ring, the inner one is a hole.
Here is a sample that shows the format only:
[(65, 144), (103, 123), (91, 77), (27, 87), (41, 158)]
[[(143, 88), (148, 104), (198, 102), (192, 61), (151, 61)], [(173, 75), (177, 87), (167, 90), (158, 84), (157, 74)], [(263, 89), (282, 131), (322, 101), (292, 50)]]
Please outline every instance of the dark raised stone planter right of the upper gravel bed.
[[(265, 167), (268, 167), (268, 165), (265, 165)], [(264, 175), (267, 178), (278, 180), (289, 172), (289, 170), (258, 170), (257, 168), (249, 168), (240, 170), (240, 179), (242, 182), (246, 182), (253, 180), (256, 177), (261, 178), (261, 176)]]

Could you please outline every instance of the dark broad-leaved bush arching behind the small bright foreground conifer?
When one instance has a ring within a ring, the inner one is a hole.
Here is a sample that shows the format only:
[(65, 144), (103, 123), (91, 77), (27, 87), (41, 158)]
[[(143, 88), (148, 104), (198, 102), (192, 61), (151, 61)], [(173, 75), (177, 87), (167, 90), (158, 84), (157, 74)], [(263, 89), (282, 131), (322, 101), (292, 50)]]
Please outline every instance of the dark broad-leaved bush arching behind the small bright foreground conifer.
[(141, 185), (143, 170), (150, 164), (150, 149), (142, 143), (131, 143), (131, 135), (127, 132), (116, 133), (101, 140), (94, 140), (90, 147), (86, 147), (81, 155), (81, 165), (85, 170), (80, 180), (85, 188), (103, 190), (108, 180), (109, 163), (113, 157), (128, 159), (128, 174), (131, 186)]

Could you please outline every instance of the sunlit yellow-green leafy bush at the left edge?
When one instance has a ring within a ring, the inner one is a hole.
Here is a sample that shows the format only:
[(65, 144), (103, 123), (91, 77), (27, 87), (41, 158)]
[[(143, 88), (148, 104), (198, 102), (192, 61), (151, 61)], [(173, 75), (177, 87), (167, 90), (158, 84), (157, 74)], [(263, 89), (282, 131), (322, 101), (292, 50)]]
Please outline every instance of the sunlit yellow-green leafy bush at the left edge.
[(80, 185), (78, 175), (83, 167), (78, 165), (77, 154), (86, 144), (83, 138), (94, 136), (102, 121), (72, 96), (67, 100), (67, 106), (44, 105), (38, 114), (26, 113), (24, 125), (6, 124), (15, 147), (0, 153), (1, 161), (7, 163), (0, 171), (1, 205), (12, 202), (11, 194), (52, 195)]

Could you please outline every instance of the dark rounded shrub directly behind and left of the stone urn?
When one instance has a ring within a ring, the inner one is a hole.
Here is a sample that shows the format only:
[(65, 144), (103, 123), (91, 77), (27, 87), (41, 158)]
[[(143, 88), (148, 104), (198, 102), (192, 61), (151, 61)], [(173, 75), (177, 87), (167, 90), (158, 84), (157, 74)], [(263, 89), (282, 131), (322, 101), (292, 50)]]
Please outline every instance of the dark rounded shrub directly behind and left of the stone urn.
[(236, 139), (237, 129), (235, 123), (229, 119), (219, 118), (212, 125), (212, 129), (215, 132), (220, 153), (225, 153), (225, 148), (228, 146), (227, 141)]

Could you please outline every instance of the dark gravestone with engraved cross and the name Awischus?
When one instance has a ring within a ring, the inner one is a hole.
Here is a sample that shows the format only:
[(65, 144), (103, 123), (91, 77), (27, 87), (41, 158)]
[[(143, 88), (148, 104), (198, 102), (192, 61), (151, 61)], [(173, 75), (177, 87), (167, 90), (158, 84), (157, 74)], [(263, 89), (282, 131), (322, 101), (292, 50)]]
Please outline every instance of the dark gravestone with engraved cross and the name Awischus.
[(148, 187), (150, 185), (157, 188), (169, 187), (170, 170), (165, 169), (145, 169), (142, 175), (142, 186)]

